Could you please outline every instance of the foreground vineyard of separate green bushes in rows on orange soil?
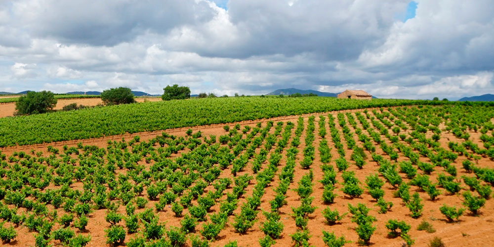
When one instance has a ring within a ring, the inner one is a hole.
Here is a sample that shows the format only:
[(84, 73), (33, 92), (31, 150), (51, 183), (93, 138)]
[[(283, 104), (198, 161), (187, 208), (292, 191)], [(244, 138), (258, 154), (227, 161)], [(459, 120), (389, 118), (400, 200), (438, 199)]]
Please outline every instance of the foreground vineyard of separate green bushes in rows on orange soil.
[[(434, 237), (491, 246), (492, 107), (318, 115), (6, 148), (0, 237), (5, 246), (325, 246), (334, 232), (353, 247), (357, 231), (375, 227), (361, 236), (372, 246)], [(464, 211), (447, 219), (440, 208), (452, 216), (452, 206)], [(329, 224), (334, 210), (341, 219)], [(435, 232), (417, 230), (423, 221)]]

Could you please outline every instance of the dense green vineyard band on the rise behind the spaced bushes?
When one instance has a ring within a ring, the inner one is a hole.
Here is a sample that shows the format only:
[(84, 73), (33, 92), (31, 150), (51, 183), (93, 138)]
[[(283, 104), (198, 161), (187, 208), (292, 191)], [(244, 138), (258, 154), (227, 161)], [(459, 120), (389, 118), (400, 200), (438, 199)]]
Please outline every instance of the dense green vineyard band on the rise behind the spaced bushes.
[(390, 99), (352, 101), (330, 97), (232, 97), (146, 102), (143, 104), (96, 107), (73, 112), (1, 118), (0, 147), (336, 110), (444, 103), (440, 101)]

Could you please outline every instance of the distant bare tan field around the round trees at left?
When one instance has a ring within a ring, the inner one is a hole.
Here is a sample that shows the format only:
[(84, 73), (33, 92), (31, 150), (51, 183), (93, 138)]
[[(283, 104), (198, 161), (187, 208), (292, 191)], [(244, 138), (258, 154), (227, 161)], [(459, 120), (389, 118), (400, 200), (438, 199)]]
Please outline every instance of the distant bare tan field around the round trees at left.
[[(135, 98), (135, 100), (141, 103), (144, 101), (161, 101), (162, 99), (160, 97), (147, 97), (147, 98), (139, 97), (139, 98)], [(78, 105), (84, 105), (84, 106), (96, 106), (98, 104), (102, 104), (103, 101), (101, 101), (100, 98), (58, 99), (57, 105), (55, 106), (54, 109), (60, 110), (64, 106), (70, 105), (72, 103), (77, 103)], [(14, 112), (15, 112), (14, 102), (8, 104), (0, 104), (0, 118), (12, 117), (14, 116)]]

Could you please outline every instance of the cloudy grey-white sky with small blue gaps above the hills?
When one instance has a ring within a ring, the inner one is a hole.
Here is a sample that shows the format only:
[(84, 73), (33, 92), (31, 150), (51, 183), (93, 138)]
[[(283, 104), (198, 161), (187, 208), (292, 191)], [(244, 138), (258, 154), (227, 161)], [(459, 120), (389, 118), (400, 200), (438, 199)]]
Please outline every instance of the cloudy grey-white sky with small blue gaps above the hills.
[(0, 0), (0, 91), (494, 93), (492, 0)]

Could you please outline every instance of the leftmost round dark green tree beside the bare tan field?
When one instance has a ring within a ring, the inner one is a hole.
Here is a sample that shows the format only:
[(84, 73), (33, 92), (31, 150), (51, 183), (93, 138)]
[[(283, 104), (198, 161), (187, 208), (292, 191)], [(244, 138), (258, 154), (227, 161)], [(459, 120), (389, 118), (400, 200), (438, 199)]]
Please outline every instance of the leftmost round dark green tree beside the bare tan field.
[(57, 104), (55, 96), (50, 91), (29, 91), (26, 95), (19, 97), (15, 103), (18, 115), (45, 113), (52, 110)]

